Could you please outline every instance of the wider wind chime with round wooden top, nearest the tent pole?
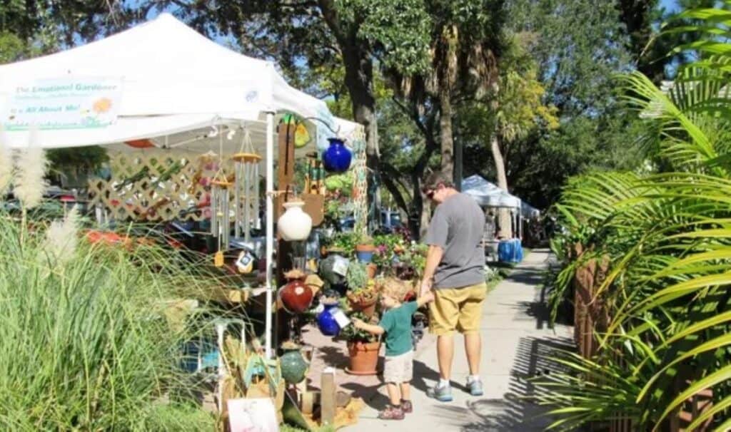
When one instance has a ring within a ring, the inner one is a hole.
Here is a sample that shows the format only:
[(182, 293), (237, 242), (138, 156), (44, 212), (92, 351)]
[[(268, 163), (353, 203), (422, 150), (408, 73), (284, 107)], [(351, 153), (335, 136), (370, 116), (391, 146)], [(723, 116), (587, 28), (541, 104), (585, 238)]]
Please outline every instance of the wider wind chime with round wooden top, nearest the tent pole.
[(245, 242), (251, 241), (251, 227), (260, 228), (259, 220), (259, 162), (251, 135), (244, 129), (241, 148), (232, 156), (234, 161), (235, 236), (243, 233)]

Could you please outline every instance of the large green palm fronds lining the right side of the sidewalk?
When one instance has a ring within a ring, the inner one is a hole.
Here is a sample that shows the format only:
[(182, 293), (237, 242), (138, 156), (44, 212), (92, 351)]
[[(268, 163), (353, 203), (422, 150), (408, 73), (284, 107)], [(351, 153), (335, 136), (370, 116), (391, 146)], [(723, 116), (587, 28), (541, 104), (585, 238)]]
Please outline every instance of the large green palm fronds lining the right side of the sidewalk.
[(659, 168), (577, 177), (561, 196), (568, 233), (553, 242), (564, 260), (553, 296), (605, 262), (590, 300), (607, 320), (597, 321), (595, 355), (558, 354), (565, 370), (536, 380), (539, 403), (556, 417), (552, 429), (622, 416), (633, 430), (669, 430), (704, 390), (712, 407), (683, 427), (731, 428), (731, 44), (716, 36), (728, 13), (681, 14), (700, 25), (676, 31), (702, 38), (677, 50), (699, 60), (669, 90), (639, 73), (622, 78)]

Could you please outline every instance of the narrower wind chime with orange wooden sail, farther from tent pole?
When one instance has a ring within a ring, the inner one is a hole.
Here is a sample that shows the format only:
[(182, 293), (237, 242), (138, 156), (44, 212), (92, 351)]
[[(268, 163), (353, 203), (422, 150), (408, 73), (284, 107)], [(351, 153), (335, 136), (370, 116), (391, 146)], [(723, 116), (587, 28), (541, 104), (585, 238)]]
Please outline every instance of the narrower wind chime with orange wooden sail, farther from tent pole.
[(230, 187), (223, 169), (223, 136), (219, 135), (219, 169), (211, 181), (211, 235), (217, 240), (218, 250), (213, 258), (216, 267), (224, 265), (224, 251), (229, 248), (230, 240)]

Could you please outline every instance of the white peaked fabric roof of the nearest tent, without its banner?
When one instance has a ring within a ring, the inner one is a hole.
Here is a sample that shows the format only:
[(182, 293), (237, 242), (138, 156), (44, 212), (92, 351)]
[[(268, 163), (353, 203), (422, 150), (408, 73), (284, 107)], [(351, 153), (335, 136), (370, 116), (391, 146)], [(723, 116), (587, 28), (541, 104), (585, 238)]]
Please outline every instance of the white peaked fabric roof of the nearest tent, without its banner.
[[(222, 47), (167, 13), (88, 45), (0, 66), (2, 122), (8, 120), (7, 108), (19, 86), (89, 77), (121, 82), (115, 123), (94, 129), (42, 128), (37, 132), (42, 147), (121, 143), (210, 129), (220, 119), (243, 120), (253, 135), (262, 137), (265, 112), (295, 112), (335, 126), (325, 102), (287, 85), (273, 63)], [(332, 135), (319, 123), (313, 127)], [(8, 130), (5, 140), (11, 147), (26, 146), (29, 131)]]

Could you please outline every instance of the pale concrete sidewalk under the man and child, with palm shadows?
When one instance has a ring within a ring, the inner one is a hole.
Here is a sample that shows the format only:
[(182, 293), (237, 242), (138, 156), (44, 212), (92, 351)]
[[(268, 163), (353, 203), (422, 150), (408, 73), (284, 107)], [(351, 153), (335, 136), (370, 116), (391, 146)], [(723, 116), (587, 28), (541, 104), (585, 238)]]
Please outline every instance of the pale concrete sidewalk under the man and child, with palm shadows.
[[(346, 432), (383, 429), (402, 431), (542, 431), (550, 420), (539, 417), (539, 406), (523, 401), (533, 391), (527, 377), (544, 373), (550, 365), (545, 355), (571, 343), (572, 328), (549, 329), (541, 284), (548, 267), (548, 250), (534, 250), (510, 277), (489, 293), (482, 309), (481, 376), (485, 396), (466, 393), (469, 374), (463, 339), (455, 336), (451, 403), (426, 396), (426, 389), (439, 379), (436, 339), (425, 336), (414, 356), (412, 381), (413, 414), (403, 421), (378, 420), (379, 409), (388, 402), (385, 385), (366, 400), (368, 406), (356, 425)], [(365, 396), (365, 395), (363, 395)]]

